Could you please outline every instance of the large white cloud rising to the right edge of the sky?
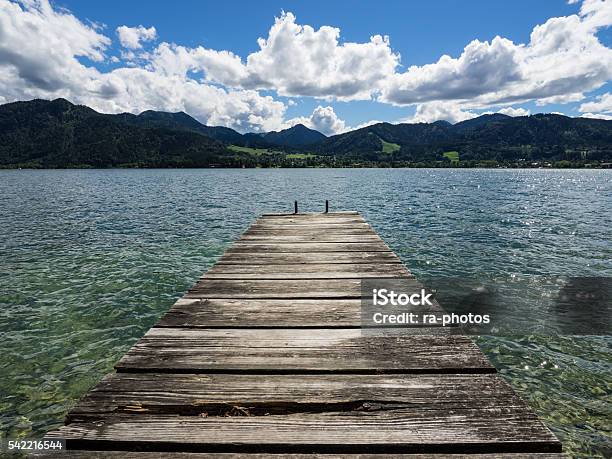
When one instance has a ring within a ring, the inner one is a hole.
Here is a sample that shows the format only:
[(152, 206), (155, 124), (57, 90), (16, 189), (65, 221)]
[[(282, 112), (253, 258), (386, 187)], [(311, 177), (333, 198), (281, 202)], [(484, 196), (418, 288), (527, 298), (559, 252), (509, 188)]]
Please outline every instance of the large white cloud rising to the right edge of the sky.
[(442, 56), (392, 75), (380, 100), (396, 105), (456, 101), (481, 108), (579, 100), (612, 78), (612, 50), (596, 35), (612, 24), (611, 6), (610, 1), (586, 0), (578, 15), (535, 26), (527, 44), (501, 37), (474, 40), (457, 58)]

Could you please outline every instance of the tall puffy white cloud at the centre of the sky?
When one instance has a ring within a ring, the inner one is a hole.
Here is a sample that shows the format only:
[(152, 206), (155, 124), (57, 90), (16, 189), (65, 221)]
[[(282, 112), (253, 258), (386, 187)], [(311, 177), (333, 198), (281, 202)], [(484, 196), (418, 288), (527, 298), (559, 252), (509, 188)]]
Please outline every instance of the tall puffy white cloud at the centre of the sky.
[(318, 30), (296, 23), (292, 13), (277, 18), (260, 38), (260, 50), (247, 57), (243, 84), (274, 88), (281, 95), (369, 99), (399, 64), (389, 38), (374, 35), (365, 43), (339, 43), (340, 29)]

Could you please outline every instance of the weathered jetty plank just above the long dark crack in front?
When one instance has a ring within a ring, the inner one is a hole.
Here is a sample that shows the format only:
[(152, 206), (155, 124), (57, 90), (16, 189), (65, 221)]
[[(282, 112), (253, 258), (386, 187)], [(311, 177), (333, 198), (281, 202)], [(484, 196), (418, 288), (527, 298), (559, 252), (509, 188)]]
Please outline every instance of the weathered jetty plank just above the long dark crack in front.
[[(237, 410), (242, 407), (243, 410)], [(249, 375), (116, 373), (70, 411), (69, 419), (115, 414), (261, 416), (410, 408), (457, 416), (466, 409), (527, 410), (499, 376)]]

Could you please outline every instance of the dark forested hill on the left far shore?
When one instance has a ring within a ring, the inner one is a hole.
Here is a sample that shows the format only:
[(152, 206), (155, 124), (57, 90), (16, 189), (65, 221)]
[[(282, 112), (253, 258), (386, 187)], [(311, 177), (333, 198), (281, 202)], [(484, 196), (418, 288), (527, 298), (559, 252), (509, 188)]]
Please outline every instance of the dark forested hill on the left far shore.
[(170, 127), (146, 127), (124, 118), (125, 115), (100, 114), (64, 99), (0, 106), (0, 165), (233, 165), (235, 154), (210, 137)]

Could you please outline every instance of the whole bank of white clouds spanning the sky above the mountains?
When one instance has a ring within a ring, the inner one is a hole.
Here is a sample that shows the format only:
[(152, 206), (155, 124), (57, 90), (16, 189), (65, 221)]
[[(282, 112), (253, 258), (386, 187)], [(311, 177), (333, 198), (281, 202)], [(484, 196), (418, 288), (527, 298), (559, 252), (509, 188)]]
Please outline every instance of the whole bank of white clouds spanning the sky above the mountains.
[(384, 35), (343, 42), (340, 29), (302, 25), (287, 12), (244, 58), (166, 42), (145, 51), (143, 43), (157, 39), (155, 27), (124, 25), (116, 29), (120, 59), (107, 55), (103, 29), (48, 0), (0, 0), (0, 101), (65, 97), (113, 113), (183, 110), (241, 132), (297, 122), (325, 134), (349, 129), (325, 103), (287, 120), (277, 96), (415, 106), (412, 122), (457, 122), (497, 107), (521, 116), (529, 112), (512, 105), (527, 101), (583, 101), (585, 116), (602, 117), (612, 113), (610, 93), (584, 99), (612, 80), (612, 49), (598, 38), (610, 25), (612, 1), (584, 0), (577, 14), (535, 26), (527, 43), (473, 40), (459, 56), (404, 69)]

